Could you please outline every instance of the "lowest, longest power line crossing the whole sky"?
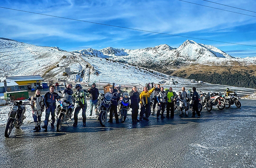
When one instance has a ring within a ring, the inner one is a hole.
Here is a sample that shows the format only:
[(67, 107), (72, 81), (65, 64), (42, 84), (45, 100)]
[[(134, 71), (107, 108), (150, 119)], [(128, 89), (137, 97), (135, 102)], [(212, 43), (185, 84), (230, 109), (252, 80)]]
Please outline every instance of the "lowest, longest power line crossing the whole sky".
[[(180, 0), (178, 0), (178, 1), (180, 1)], [(85, 20), (72, 19), (72, 18), (61, 17), (61, 16), (47, 15), (47, 14), (43, 14), (43, 13), (30, 12), (30, 11), (12, 9), (12, 8), (1, 7), (1, 6), (0, 6), (0, 8), (10, 9), (10, 10), (17, 10), (17, 11), (27, 12), (27, 13), (34, 13), (34, 14), (39, 14), (39, 15), (44, 15), (44, 16), (57, 17), (57, 18), (62, 18), (62, 19), (75, 20), (75, 21), (80, 21), (80, 22), (93, 23), (93, 24), (104, 25), (104, 26), (112, 26), (112, 27), (118, 27), (118, 28), (123, 28), (123, 29), (130, 29), (130, 30), (137, 30), (137, 31), (142, 31), (142, 32), (156, 33), (156, 34), (161, 34), (161, 35), (170, 35), (170, 36), (184, 37), (184, 38), (192, 38), (192, 39), (205, 40), (205, 41), (214, 41), (214, 42), (226, 43), (226, 44), (236, 44), (236, 45), (242, 45), (242, 46), (252, 46), (252, 47), (256, 47), (256, 46), (247, 45), (247, 44), (238, 44), (238, 43), (230, 43), (230, 42), (225, 42), (225, 41), (216, 41), (216, 40), (209, 40), (209, 39), (202, 39), (202, 38), (194, 38), (194, 37), (187, 37), (187, 36), (180, 36), (180, 35), (172, 35), (172, 34), (167, 34), (167, 33), (152, 32), (152, 31), (148, 31), (148, 30), (133, 29), (133, 28), (128, 28), (128, 27), (115, 26), (115, 25), (108, 25), (108, 24), (97, 23), (97, 22), (89, 22), (89, 21), (85, 21)], [(256, 16), (255, 16), (255, 17), (256, 17)]]

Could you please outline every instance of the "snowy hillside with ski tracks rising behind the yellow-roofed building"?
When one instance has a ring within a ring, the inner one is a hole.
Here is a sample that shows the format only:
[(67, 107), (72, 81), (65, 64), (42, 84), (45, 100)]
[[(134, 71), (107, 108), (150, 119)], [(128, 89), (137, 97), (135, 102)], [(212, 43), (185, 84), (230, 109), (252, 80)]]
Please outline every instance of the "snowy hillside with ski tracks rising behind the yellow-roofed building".
[[(91, 48), (67, 52), (59, 47), (35, 46), (0, 38), (0, 80), (4, 80), (6, 76), (41, 75), (47, 80), (65, 78), (74, 82), (76, 74), (84, 71), (85, 75), (80, 80), (83, 82), (88, 81), (89, 72), (90, 82), (145, 84), (169, 81), (168, 76), (163, 73), (108, 60), (105, 57), (109, 56)], [(62, 76), (65, 67), (70, 67), (73, 74)]]

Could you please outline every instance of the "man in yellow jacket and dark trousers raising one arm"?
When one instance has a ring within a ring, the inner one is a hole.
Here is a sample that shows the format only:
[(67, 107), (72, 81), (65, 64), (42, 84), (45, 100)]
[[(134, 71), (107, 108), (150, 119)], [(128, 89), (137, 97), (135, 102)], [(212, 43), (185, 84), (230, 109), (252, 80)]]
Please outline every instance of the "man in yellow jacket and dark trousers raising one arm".
[(148, 117), (150, 115), (150, 95), (153, 93), (155, 90), (156, 85), (154, 84), (154, 87), (148, 91), (147, 87), (143, 88), (143, 91), (139, 95), (140, 98), (140, 113), (139, 113), (139, 120), (141, 121), (143, 118), (143, 114), (146, 113), (146, 118), (145, 120), (149, 120)]

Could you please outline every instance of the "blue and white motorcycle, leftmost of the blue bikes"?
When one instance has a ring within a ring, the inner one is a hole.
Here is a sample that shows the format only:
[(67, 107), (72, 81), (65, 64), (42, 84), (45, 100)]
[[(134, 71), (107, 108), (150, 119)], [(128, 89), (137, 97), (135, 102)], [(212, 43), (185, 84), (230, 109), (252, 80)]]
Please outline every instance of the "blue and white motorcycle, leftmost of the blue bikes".
[[(61, 91), (59, 91), (61, 93)], [(61, 126), (64, 122), (67, 123), (67, 120), (71, 119), (74, 111), (74, 101), (73, 96), (68, 95), (67, 93), (63, 95), (60, 101), (58, 101), (58, 105), (56, 108), (56, 116), (57, 116), (57, 132), (61, 131)]]

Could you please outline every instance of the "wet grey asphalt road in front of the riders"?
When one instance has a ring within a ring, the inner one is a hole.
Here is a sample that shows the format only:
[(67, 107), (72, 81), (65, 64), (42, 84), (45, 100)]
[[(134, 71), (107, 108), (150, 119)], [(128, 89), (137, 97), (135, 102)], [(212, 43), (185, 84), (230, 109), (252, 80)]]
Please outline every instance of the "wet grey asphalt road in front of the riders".
[(64, 125), (33, 132), (13, 130), (4, 137), (0, 127), (0, 167), (256, 167), (256, 101), (241, 100), (239, 109), (209, 113), (201, 118), (179, 117), (101, 127), (88, 119), (86, 127)]

